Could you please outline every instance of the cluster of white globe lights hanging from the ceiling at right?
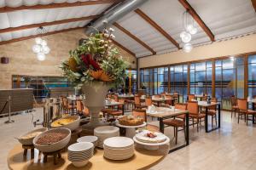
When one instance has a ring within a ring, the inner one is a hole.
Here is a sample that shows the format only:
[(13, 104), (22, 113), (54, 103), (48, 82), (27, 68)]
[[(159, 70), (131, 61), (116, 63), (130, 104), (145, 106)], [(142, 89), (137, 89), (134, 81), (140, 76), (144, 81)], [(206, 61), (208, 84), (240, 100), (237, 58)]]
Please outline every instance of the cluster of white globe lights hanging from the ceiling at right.
[(189, 53), (193, 46), (191, 43), (189, 43), (192, 39), (191, 35), (196, 34), (197, 29), (194, 25), (194, 20), (192, 19), (191, 15), (188, 13), (188, 11), (185, 11), (183, 13), (183, 31), (180, 33), (179, 37), (181, 37), (182, 42), (184, 42), (183, 45), (183, 51), (186, 53)]

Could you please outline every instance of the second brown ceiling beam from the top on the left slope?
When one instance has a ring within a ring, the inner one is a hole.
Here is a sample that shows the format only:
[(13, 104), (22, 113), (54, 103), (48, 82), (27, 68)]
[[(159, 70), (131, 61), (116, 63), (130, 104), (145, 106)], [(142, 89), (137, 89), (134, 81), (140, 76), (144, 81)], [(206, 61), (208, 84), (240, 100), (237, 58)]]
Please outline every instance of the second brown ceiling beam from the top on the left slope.
[(54, 26), (54, 25), (66, 24), (69, 22), (76, 22), (76, 21), (82, 21), (82, 20), (91, 20), (91, 19), (95, 19), (98, 16), (99, 15), (90, 15), (90, 16), (85, 16), (85, 17), (81, 17), (81, 18), (73, 18), (73, 19), (67, 19), (67, 20), (55, 20), (52, 22), (44, 22), (44, 23), (32, 24), (32, 25), (26, 25), (26, 26), (9, 27), (9, 28), (5, 28), (5, 29), (1, 29), (0, 33), (21, 31), (21, 30), (26, 30), (26, 29), (31, 29), (31, 28), (38, 28), (40, 26)]

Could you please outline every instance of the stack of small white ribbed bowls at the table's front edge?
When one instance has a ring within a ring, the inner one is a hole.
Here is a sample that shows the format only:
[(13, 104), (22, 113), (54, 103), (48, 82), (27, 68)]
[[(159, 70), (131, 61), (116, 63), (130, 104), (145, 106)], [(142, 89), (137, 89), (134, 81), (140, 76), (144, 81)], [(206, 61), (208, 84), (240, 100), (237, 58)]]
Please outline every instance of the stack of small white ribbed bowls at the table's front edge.
[(67, 148), (67, 158), (75, 167), (85, 166), (93, 156), (94, 145), (91, 142), (72, 144)]

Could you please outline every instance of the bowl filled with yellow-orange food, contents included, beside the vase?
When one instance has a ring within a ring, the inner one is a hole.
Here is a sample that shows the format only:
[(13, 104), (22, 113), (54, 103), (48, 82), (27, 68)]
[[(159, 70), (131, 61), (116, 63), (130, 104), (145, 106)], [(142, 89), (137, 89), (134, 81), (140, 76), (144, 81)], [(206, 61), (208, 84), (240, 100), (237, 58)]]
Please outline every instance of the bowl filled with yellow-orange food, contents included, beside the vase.
[(66, 128), (69, 128), (71, 131), (77, 129), (79, 125), (80, 125), (80, 116), (66, 116), (50, 124), (52, 128), (66, 127)]

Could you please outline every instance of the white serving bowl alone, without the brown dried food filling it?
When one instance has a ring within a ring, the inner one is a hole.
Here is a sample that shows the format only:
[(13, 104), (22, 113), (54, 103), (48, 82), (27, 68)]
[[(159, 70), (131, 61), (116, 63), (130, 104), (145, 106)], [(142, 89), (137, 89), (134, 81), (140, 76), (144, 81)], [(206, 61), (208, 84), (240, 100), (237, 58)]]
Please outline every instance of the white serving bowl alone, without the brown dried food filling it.
[[(61, 139), (58, 142), (55, 142), (53, 144), (37, 144), (38, 139), (41, 137), (44, 137), (48, 133), (65, 133), (67, 136), (64, 139)], [(42, 152), (54, 152), (57, 150), (63, 149), (67, 144), (69, 143), (71, 138), (71, 130), (66, 127), (56, 127), (53, 129), (50, 129), (49, 131), (46, 131), (44, 133), (39, 134), (36, 138), (33, 139), (33, 144), (36, 149), (42, 151)]]

